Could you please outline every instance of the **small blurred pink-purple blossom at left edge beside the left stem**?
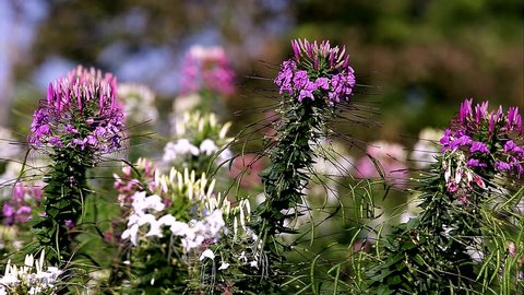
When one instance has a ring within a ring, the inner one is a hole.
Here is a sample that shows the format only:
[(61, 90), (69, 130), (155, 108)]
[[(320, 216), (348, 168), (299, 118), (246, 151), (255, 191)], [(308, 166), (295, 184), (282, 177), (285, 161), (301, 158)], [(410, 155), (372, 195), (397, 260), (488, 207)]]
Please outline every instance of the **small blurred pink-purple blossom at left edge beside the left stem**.
[(3, 224), (11, 226), (26, 223), (32, 217), (32, 204), (41, 199), (41, 188), (17, 182), (13, 188), (13, 198), (3, 204)]

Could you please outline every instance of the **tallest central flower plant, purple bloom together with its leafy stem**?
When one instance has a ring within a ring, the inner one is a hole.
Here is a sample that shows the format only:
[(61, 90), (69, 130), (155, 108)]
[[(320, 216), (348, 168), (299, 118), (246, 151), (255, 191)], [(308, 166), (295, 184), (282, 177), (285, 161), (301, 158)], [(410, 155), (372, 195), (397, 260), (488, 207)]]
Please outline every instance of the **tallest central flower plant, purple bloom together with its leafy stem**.
[[(265, 201), (259, 206), (260, 231), (266, 245), (281, 233), (290, 233), (285, 220), (302, 203), (314, 163), (314, 146), (329, 133), (336, 105), (349, 102), (354, 70), (345, 48), (329, 42), (293, 40), (294, 56), (281, 66), (275, 84), (283, 99), (277, 109), (277, 134), (269, 141), (270, 166), (261, 173)], [(272, 246), (273, 247), (273, 246)], [(279, 253), (272, 248), (272, 252)]]

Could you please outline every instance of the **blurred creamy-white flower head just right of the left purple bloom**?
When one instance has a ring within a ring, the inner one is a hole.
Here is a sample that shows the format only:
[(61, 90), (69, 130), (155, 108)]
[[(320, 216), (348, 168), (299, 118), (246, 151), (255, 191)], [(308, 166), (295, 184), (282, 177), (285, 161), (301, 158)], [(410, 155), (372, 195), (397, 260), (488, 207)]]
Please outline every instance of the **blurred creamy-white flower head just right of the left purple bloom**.
[(145, 85), (120, 84), (118, 96), (123, 102), (124, 114), (134, 122), (156, 121), (155, 94)]

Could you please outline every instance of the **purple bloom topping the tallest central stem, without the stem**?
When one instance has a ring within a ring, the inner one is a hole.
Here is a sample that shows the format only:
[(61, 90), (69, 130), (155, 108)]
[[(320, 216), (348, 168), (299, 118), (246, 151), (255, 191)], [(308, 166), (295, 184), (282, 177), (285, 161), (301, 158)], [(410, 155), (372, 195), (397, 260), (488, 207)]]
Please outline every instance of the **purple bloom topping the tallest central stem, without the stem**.
[(325, 98), (330, 105), (349, 101), (356, 82), (345, 47), (341, 50), (326, 40), (318, 44), (298, 39), (291, 42), (291, 48), (294, 57), (282, 63), (274, 81), (281, 94), (298, 102)]

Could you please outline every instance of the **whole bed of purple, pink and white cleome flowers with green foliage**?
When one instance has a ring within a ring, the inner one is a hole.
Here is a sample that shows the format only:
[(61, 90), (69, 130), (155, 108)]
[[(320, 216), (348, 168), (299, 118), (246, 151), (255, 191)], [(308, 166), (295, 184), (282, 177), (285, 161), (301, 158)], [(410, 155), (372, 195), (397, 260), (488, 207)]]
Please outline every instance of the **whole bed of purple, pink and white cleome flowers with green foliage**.
[(345, 47), (290, 52), (258, 145), (213, 109), (236, 93), (219, 47), (190, 50), (170, 114), (93, 68), (51, 82), (27, 138), (46, 164), (1, 163), (0, 294), (524, 292), (519, 107), (465, 99), (409, 165), (345, 144), (338, 123), (372, 109)]

